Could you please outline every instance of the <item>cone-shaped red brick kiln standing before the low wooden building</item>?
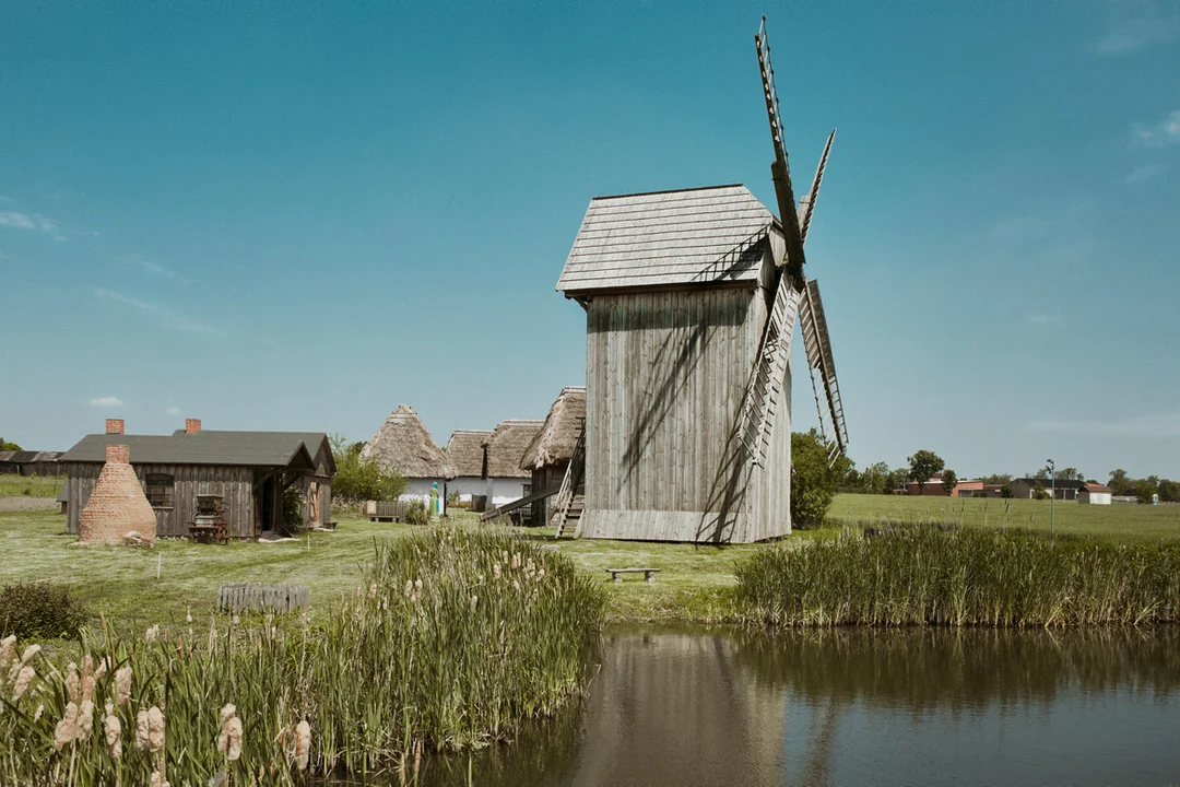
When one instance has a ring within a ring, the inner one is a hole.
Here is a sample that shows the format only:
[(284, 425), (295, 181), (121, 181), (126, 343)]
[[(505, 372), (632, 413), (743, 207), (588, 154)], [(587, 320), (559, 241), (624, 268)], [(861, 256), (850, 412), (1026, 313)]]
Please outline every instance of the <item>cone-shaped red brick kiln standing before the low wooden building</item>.
[[(118, 420), (118, 419), (112, 419)], [(123, 421), (119, 421), (122, 427)], [(143, 540), (156, 540), (156, 512), (148, 503), (131, 467), (131, 447), (106, 446), (106, 464), (94, 481), (94, 491), (78, 517), (78, 540), (83, 544), (122, 544), (136, 531)]]

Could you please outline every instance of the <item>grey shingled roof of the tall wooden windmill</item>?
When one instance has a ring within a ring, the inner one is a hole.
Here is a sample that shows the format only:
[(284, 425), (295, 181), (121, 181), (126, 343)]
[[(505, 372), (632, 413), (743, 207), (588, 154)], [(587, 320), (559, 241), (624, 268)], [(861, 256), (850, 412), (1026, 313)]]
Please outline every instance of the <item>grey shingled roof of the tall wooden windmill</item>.
[(740, 184), (595, 197), (557, 289), (756, 282), (774, 215)]

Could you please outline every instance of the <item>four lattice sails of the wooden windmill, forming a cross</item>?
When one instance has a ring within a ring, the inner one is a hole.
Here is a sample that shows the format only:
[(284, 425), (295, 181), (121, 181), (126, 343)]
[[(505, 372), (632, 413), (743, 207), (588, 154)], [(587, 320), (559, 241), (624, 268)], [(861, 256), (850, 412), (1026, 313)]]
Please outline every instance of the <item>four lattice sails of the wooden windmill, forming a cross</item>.
[[(835, 130), (828, 135), (827, 144), (824, 145), (824, 155), (812, 179), (811, 190), (796, 208), (787, 149), (782, 142), (782, 116), (774, 85), (774, 67), (771, 65), (771, 45), (766, 38), (766, 17), (762, 18), (762, 25), (754, 35), (754, 45), (758, 48), (762, 93), (771, 122), (771, 139), (774, 143), (771, 177), (774, 181), (778, 218), (782, 228), (784, 255), (781, 261), (775, 261), (779, 270), (778, 283), (756, 368), (746, 393), (741, 439), (755, 465), (765, 461), (775, 408), (780, 405), (784, 380), (791, 365), (791, 340), (798, 317), (802, 327), (804, 350), (807, 356), (807, 370), (811, 374), (812, 393), (815, 396), (815, 409), (819, 413), (819, 432), (831, 465), (846, 453), (848, 433), (844, 421), (844, 407), (840, 404), (840, 387), (835, 379), (832, 342), (827, 334), (827, 320), (824, 316), (819, 284), (814, 278), (808, 280), (804, 271), (806, 263), (804, 244), (807, 241), (807, 230), (819, 198), (819, 188), (824, 181), (824, 170), (827, 168)], [(827, 437), (830, 433), (832, 439)]]

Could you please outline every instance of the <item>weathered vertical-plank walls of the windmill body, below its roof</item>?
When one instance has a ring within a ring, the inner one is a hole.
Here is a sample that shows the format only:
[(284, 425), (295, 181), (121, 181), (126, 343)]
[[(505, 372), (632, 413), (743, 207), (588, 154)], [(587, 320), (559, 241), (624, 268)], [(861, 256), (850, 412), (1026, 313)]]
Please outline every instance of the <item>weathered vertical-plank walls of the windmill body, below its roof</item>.
[(765, 470), (736, 438), (766, 314), (761, 288), (590, 301), (583, 534), (749, 542), (788, 532), (787, 402)]

